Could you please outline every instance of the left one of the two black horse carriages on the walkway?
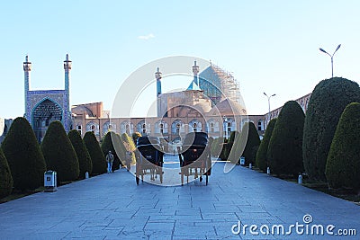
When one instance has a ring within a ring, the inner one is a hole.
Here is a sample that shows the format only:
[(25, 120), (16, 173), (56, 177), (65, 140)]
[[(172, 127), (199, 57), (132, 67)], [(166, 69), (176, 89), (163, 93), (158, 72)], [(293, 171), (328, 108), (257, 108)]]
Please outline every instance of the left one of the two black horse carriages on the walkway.
[(163, 182), (163, 157), (164, 153), (157, 137), (140, 137), (136, 147), (136, 183), (139, 179), (144, 182), (144, 175), (149, 174), (150, 180), (155, 180), (157, 175), (160, 182)]

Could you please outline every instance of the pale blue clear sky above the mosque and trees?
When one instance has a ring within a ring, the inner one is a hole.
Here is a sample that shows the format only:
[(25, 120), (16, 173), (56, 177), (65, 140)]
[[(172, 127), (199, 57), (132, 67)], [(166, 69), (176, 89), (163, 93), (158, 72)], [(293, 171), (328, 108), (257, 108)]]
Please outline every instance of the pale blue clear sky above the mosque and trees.
[[(6, 1), (0, 8), (0, 118), (23, 115), (26, 54), (31, 89), (62, 89), (67, 53), (72, 104), (102, 101), (111, 110), (133, 71), (184, 55), (232, 72), (247, 111), (264, 114), (263, 92), (276, 93), (274, 109), (331, 76), (330, 58), (319, 48), (332, 53), (342, 44), (334, 75), (360, 83), (359, 9), (356, 0)], [(174, 81), (163, 87), (186, 87), (191, 79)]]

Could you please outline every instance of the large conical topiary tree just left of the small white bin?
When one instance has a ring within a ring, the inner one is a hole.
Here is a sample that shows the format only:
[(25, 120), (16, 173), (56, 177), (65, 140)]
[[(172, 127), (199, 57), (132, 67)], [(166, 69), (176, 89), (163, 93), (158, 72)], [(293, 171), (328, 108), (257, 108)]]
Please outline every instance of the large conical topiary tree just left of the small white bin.
[(28, 120), (16, 118), (1, 147), (13, 176), (14, 189), (35, 190), (43, 185), (46, 164)]

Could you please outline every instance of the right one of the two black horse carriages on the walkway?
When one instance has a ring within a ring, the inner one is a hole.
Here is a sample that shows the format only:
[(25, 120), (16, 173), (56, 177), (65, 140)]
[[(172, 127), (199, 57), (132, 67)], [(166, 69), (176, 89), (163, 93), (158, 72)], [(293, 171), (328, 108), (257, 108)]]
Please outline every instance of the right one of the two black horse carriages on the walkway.
[(206, 178), (206, 185), (211, 175), (211, 148), (208, 146), (208, 135), (204, 132), (186, 134), (183, 147), (177, 147), (181, 167), (181, 184), (184, 185), (184, 176), (189, 183), (189, 176), (194, 179), (202, 175)]

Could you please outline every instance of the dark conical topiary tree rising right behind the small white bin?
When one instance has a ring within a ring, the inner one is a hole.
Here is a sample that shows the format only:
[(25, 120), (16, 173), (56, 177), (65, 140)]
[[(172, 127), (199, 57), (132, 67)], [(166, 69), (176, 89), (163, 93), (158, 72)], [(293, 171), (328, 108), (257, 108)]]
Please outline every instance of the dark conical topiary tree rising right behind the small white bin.
[(48, 170), (56, 171), (58, 182), (79, 177), (79, 162), (67, 133), (58, 120), (52, 121), (41, 142), (41, 151)]

